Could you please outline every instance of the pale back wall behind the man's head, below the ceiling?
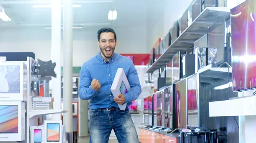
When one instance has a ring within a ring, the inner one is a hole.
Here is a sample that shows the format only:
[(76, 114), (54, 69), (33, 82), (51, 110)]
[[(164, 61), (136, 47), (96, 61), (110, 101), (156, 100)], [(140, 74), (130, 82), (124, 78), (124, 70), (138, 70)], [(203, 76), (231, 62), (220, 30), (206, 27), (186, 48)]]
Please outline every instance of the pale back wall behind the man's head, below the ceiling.
[[(148, 53), (146, 26), (144, 28), (117, 27), (113, 29), (117, 34), (117, 53)], [(73, 66), (81, 66), (99, 52), (98, 30), (99, 28), (74, 29)], [(62, 43), (61, 48), (63, 49)], [(51, 29), (0, 28), (0, 51), (34, 52), (36, 59), (48, 61), (51, 59)]]

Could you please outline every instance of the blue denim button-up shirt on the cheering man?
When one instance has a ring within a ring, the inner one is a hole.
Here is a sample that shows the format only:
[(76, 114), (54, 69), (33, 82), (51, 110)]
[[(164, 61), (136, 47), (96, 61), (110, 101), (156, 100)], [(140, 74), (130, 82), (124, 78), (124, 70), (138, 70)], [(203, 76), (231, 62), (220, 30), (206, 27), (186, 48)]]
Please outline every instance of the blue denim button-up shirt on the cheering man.
[[(131, 86), (131, 90), (124, 94), (127, 107), (139, 97), (141, 93), (140, 80), (133, 62), (125, 56), (114, 53), (107, 64), (99, 52), (82, 65), (80, 72), (79, 97), (82, 100), (90, 99), (90, 109), (119, 108), (110, 90), (117, 68), (123, 68)], [(99, 91), (95, 91), (90, 87), (93, 79), (97, 79), (100, 82), (101, 88)]]

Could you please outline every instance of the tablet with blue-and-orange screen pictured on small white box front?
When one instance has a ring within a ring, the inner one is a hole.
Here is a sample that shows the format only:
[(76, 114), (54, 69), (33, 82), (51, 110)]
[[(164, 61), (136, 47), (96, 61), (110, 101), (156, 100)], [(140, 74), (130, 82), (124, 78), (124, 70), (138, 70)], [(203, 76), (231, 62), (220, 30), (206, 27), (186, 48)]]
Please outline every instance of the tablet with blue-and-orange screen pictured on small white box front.
[(47, 142), (60, 141), (60, 124), (47, 123)]

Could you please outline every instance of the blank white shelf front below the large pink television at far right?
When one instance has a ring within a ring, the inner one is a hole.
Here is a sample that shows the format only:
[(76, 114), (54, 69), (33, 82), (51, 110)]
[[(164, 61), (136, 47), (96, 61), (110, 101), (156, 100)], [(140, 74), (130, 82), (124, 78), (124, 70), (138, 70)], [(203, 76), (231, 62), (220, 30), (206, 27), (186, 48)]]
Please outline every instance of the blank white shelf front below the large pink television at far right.
[(256, 115), (255, 103), (255, 95), (225, 101), (209, 102), (209, 116), (223, 117)]

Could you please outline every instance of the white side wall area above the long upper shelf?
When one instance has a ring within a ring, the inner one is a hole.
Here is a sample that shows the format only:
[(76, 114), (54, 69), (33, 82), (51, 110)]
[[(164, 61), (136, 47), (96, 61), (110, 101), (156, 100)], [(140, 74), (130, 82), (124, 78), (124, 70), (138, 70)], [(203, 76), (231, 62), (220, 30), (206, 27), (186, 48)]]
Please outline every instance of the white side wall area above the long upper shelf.
[(163, 38), (169, 32), (173, 23), (182, 16), (190, 3), (192, 3), (192, 0), (148, 0), (148, 51), (157, 42), (157, 38)]

